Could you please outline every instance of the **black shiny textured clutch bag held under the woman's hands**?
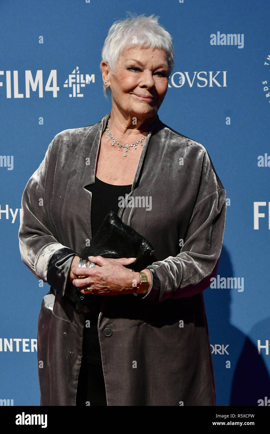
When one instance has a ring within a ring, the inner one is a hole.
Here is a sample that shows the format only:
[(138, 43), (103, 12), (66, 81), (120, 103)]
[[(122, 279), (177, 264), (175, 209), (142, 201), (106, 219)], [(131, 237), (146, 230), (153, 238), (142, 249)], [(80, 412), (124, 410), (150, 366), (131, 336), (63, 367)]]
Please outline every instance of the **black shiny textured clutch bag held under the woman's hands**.
[[(110, 211), (92, 238), (90, 245), (85, 247), (80, 257), (88, 259), (88, 256), (103, 256), (104, 258), (137, 258), (128, 265), (135, 271), (143, 270), (153, 261), (153, 246), (140, 233), (123, 223), (120, 217)], [(71, 285), (65, 291), (78, 312), (88, 313), (94, 310), (98, 295), (83, 295), (80, 290)]]

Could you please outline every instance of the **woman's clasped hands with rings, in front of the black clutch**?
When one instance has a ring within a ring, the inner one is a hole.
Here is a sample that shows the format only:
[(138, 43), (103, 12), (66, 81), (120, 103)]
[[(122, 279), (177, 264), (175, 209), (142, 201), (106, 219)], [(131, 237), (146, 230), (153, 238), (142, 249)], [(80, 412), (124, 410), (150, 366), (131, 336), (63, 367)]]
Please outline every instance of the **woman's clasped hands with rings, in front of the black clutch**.
[[(90, 288), (92, 294), (98, 295), (133, 294), (137, 291), (140, 273), (130, 272), (124, 267), (132, 264), (136, 258), (109, 259), (102, 256), (89, 256), (89, 260), (95, 263), (91, 268), (78, 267), (78, 260), (79, 257), (75, 256), (72, 261), (70, 281), (81, 290), (82, 294), (87, 294), (84, 291), (86, 288)], [(147, 273), (149, 279), (150, 270), (147, 272), (149, 272)]]

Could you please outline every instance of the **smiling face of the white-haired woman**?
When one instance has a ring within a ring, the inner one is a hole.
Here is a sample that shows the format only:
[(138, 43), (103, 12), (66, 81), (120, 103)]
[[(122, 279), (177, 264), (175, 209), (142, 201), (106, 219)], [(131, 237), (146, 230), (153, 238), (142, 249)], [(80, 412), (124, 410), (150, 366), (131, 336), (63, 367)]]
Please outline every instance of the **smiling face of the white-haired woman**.
[(167, 92), (168, 70), (163, 49), (125, 48), (108, 75), (112, 103), (138, 118), (155, 115)]

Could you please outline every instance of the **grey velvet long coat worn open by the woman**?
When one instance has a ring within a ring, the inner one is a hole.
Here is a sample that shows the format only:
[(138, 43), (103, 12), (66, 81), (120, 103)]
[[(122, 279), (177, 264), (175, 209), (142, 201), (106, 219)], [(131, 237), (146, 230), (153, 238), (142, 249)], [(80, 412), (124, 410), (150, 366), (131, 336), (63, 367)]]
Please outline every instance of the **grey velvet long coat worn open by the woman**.
[[(91, 239), (91, 192), (85, 186), (94, 183), (109, 116), (57, 134), (26, 185), (20, 252), (32, 273), (45, 282), (55, 252), (63, 247), (81, 252), (85, 240)], [(151, 210), (127, 206), (118, 215), (153, 245), (148, 267), (153, 284), (146, 296), (103, 296), (98, 334), (107, 405), (215, 405), (202, 291), (218, 271), (225, 190), (204, 146), (157, 117), (130, 195), (152, 198)], [(85, 320), (65, 296), (72, 259), (59, 266), (62, 283), (50, 291), (53, 309), (43, 299), (39, 314), (41, 405), (76, 403)]]

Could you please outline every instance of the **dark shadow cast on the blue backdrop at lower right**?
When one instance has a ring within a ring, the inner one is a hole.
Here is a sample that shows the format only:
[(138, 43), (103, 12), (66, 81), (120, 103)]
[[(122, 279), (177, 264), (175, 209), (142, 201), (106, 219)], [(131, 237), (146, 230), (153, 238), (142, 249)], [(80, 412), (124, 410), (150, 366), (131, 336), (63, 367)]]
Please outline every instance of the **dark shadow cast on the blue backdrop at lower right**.
[[(226, 279), (234, 277), (230, 256), (224, 246), (221, 251), (218, 274)], [(217, 405), (257, 406), (259, 399), (264, 400), (265, 396), (270, 398), (270, 377), (262, 357), (266, 349), (261, 349), (261, 355), (259, 355), (257, 345), (253, 342), (260, 339), (261, 345), (265, 345), (266, 339), (269, 339), (267, 332), (270, 327), (270, 318), (254, 325), (249, 336), (245, 335), (230, 323), (232, 292), (235, 292), (235, 296), (241, 303), (245, 292), (238, 292), (237, 288), (212, 289), (209, 287), (204, 291), (210, 344), (214, 347), (211, 347), (211, 350)]]

